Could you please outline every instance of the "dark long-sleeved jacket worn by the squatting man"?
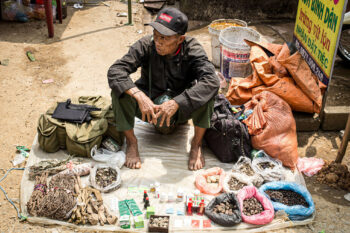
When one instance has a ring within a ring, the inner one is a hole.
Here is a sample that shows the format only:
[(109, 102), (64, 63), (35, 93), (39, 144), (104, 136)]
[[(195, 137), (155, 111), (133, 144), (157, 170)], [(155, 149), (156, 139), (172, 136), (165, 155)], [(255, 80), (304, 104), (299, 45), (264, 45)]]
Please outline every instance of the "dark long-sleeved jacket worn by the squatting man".
[[(140, 66), (141, 78), (133, 83), (129, 75)], [(151, 93), (149, 75), (152, 77)], [(193, 85), (194, 81), (196, 83)], [(171, 90), (179, 111), (186, 116), (207, 103), (220, 85), (215, 68), (203, 47), (196, 39), (188, 36), (178, 54), (171, 57), (158, 55), (152, 36), (141, 38), (109, 68), (108, 83), (117, 97), (135, 86), (151, 99)]]

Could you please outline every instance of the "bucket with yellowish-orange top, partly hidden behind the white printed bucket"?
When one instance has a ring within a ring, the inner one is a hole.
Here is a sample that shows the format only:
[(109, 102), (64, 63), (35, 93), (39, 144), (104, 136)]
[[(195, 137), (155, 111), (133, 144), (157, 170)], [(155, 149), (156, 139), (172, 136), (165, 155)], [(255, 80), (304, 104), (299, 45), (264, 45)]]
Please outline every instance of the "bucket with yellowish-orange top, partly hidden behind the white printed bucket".
[(220, 32), (231, 26), (247, 27), (247, 23), (239, 19), (217, 19), (209, 25), (208, 30), (211, 35), (212, 62), (216, 67), (220, 67)]

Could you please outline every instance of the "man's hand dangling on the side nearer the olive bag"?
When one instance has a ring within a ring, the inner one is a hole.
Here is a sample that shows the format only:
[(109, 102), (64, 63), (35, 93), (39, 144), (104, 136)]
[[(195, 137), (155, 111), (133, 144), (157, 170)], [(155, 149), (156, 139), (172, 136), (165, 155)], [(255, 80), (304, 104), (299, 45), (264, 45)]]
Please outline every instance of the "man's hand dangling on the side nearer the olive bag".
[(147, 117), (148, 123), (157, 124), (157, 117), (155, 111), (156, 105), (153, 103), (153, 101), (142, 91), (135, 93), (133, 96), (139, 104), (139, 108), (142, 113), (142, 120), (146, 121)]

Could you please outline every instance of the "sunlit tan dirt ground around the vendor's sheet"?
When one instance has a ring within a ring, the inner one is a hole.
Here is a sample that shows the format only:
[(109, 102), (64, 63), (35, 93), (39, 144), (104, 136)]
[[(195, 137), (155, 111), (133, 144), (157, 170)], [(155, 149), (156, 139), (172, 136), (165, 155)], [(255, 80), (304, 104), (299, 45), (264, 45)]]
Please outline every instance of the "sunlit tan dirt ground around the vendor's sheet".
[[(116, 14), (126, 12), (127, 6), (119, 1), (105, 3), (109, 6), (86, 6), (81, 10), (69, 6), (68, 17), (63, 24), (55, 24), (53, 39), (47, 38), (44, 21), (25, 24), (0, 22), (0, 60), (10, 60), (8, 66), (0, 66), (1, 176), (12, 167), (15, 145), (31, 146), (37, 119), (52, 103), (73, 96), (108, 96), (110, 90), (106, 74), (109, 66), (125, 54), (134, 41), (146, 34), (142, 23), (142, 5), (133, 6), (134, 25), (123, 26), (127, 18), (117, 17)], [(284, 29), (292, 30), (294, 23), (282, 22), (268, 28), (255, 26), (266, 38), (274, 41), (278, 34), (272, 29), (282, 32)], [(211, 57), (207, 28), (188, 34), (198, 38)], [(34, 53), (35, 62), (30, 62), (26, 57), (28, 50)], [(138, 75), (139, 72), (132, 77), (137, 78)], [(42, 81), (47, 79), (54, 82), (43, 84)], [(301, 157), (316, 156), (332, 160), (340, 146), (339, 132), (298, 133), (298, 143)], [(349, 149), (344, 163), (350, 165)], [(17, 205), (21, 177), (22, 171), (13, 171), (0, 183)], [(276, 232), (348, 232), (350, 202), (343, 198), (346, 192), (315, 184), (313, 179), (306, 181), (316, 204), (315, 222)], [(0, 219), (0, 232), (70, 231), (19, 222), (14, 208), (2, 193)]]

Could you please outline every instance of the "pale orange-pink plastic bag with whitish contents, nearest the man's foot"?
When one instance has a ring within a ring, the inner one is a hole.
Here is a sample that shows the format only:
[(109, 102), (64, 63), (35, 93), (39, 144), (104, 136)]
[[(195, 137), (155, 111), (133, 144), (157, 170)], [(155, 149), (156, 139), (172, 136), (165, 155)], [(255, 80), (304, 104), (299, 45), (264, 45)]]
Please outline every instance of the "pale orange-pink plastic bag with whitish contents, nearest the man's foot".
[[(219, 183), (217, 186), (213, 186), (212, 184), (207, 183), (208, 176), (219, 175)], [(196, 187), (202, 193), (209, 195), (217, 195), (222, 191), (222, 185), (225, 178), (225, 171), (219, 167), (213, 167), (208, 170), (205, 170), (201, 174), (196, 177)]]

